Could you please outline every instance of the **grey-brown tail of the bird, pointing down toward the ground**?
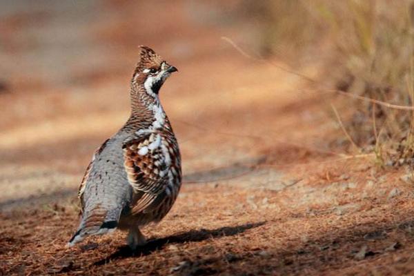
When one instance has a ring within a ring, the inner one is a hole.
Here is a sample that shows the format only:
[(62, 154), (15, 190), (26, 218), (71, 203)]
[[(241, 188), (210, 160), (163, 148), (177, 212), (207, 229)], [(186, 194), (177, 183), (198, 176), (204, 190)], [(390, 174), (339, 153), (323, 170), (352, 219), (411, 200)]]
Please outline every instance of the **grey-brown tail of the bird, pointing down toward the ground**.
[(108, 212), (108, 210), (99, 206), (93, 208), (88, 213), (84, 213), (78, 230), (72, 236), (67, 246), (74, 246), (88, 235), (111, 233), (118, 226), (119, 215), (120, 211), (113, 210)]

